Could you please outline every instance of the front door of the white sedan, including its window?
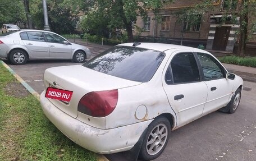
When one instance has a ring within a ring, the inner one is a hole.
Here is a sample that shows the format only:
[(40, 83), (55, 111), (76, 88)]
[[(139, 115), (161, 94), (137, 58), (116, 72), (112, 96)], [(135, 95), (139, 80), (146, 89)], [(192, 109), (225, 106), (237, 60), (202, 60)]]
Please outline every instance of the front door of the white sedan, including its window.
[(201, 63), (204, 82), (208, 88), (207, 101), (203, 115), (216, 111), (225, 106), (232, 93), (232, 81), (226, 79), (226, 71), (211, 55), (198, 53)]

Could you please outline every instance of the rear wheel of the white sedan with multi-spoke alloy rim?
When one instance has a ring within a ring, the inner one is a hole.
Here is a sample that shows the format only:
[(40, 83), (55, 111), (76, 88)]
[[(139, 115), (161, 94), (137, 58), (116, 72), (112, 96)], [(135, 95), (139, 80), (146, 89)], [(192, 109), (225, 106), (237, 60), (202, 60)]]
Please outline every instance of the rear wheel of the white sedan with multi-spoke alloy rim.
[(159, 157), (167, 145), (171, 132), (171, 124), (166, 117), (154, 119), (148, 126), (141, 145), (139, 158), (153, 160)]

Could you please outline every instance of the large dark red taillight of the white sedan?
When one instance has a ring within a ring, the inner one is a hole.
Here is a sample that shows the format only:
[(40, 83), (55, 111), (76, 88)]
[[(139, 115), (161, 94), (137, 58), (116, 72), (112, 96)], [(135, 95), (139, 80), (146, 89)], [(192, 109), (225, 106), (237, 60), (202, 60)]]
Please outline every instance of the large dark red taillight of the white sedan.
[(105, 117), (116, 108), (117, 100), (117, 89), (93, 91), (80, 99), (78, 111), (93, 117)]

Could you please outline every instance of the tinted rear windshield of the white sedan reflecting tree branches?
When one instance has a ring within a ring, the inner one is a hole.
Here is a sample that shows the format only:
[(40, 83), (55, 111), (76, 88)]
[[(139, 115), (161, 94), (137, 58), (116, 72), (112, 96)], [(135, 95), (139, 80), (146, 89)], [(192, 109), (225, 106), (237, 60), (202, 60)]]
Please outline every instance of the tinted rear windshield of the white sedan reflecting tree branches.
[(83, 66), (122, 79), (147, 82), (157, 71), (164, 56), (164, 53), (156, 50), (116, 46), (90, 59)]

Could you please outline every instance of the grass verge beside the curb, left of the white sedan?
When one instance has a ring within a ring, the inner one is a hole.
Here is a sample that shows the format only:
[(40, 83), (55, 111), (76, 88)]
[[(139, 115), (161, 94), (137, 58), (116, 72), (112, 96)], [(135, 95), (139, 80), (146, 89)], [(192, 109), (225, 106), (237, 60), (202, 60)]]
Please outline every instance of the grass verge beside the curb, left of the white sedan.
[(39, 101), (0, 63), (0, 160), (97, 160), (44, 116)]

